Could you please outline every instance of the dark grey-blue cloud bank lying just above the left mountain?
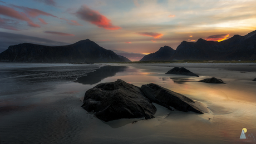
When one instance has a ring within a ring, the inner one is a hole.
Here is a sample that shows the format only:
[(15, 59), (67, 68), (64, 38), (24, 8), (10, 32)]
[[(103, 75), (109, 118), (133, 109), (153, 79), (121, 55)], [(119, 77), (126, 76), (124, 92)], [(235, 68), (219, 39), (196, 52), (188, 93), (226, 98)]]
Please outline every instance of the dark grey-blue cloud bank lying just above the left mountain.
[(14, 34), (8, 32), (0, 32), (0, 52), (5, 51), (9, 46), (19, 43), (35, 43), (46, 46), (62, 46), (69, 43), (52, 41), (46, 38), (31, 37), (23, 34)]

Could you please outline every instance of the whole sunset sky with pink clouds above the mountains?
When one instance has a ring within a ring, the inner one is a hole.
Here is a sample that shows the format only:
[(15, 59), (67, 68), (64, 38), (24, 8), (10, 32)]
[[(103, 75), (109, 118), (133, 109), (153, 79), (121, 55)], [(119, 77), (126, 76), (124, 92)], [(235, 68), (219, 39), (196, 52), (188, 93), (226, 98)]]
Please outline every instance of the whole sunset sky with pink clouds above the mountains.
[(139, 61), (183, 41), (223, 41), (256, 29), (255, 0), (0, 0), (0, 52), (90, 39)]

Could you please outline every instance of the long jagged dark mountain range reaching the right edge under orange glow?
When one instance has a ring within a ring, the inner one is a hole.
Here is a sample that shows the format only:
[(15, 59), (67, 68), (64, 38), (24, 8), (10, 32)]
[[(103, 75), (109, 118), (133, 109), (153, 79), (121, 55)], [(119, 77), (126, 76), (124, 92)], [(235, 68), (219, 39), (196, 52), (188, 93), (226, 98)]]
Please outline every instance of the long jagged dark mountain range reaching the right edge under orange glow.
[[(160, 49), (159, 49), (160, 50)], [(157, 51), (159, 52), (159, 51)], [(156, 53), (156, 52), (155, 52)], [(151, 53), (151, 55), (154, 53)], [(154, 61), (150, 54), (144, 56), (140, 61)], [(149, 57), (149, 58), (146, 58)], [(179, 59), (198, 59), (198, 60), (251, 60), (256, 59), (256, 31), (250, 32), (245, 36), (234, 35), (221, 42), (206, 41), (198, 39), (196, 42), (183, 41), (174, 50), (174, 53), (157, 54), (157, 60), (179, 60)], [(166, 58), (169, 57), (169, 58)], [(145, 60), (146, 58), (146, 60)]]

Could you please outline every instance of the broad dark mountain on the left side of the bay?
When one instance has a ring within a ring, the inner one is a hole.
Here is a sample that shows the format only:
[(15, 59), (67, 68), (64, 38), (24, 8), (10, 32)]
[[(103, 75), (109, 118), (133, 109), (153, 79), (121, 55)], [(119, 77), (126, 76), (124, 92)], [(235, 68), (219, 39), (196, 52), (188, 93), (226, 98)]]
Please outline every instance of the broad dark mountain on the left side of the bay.
[(90, 39), (56, 47), (22, 43), (9, 46), (6, 51), (0, 53), (0, 62), (96, 63), (127, 61), (130, 62), (128, 58), (118, 56), (115, 52), (100, 47)]

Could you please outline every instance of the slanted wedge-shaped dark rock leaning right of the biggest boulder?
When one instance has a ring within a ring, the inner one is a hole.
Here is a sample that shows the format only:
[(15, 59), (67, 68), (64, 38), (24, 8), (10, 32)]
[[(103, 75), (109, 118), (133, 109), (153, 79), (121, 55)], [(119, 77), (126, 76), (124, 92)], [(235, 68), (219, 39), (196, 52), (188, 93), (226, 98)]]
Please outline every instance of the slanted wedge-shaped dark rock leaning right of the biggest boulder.
[(203, 110), (199, 109), (197, 106), (198, 103), (195, 101), (184, 95), (181, 95), (180, 93), (168, 90), (167, 88), (161, 87), (154, 83), (142, 85), (140, 90), (144, 92), (149, 100), (164, 106), (169, 110), (172, 110), (171, 107), (173, 107), (176, 110), (183, 112), (192, 111), (200, 114), (204, 113)]

